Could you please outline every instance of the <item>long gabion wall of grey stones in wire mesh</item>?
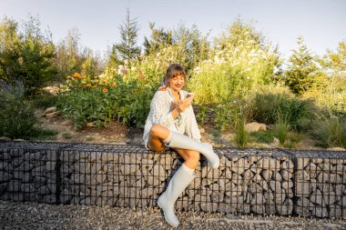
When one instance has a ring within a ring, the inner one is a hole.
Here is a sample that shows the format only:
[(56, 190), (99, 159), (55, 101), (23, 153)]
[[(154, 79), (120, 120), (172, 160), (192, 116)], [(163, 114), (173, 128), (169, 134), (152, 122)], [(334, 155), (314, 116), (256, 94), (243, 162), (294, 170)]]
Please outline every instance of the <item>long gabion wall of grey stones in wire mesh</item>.
[[(217, 150), (180, 195), (184, 210), (259, 215), (346, 216), (346, 153)], [(48, 204), (156, 206), (183, 163), (140, 146), (0, 144), (0, 199)]]

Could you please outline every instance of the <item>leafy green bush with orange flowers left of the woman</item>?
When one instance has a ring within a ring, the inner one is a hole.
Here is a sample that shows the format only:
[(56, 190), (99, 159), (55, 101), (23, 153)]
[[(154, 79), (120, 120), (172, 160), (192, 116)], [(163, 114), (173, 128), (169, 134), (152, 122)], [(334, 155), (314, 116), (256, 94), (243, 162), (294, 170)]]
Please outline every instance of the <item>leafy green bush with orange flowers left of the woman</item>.
[(143, 125), (154, 87), (119, 75), (69, 76), (58, 106), (76, 129), (92, 122), (106, 126), (113, 119), (125, 125)]

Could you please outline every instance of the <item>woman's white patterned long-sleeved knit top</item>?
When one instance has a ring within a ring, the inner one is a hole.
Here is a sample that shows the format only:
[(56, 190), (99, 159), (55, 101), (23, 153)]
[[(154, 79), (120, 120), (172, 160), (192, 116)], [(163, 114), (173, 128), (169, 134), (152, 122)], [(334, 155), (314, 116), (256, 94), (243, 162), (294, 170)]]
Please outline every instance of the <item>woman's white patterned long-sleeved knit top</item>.
[[(187, 92), (180, 90), (179, 94), (180, 99), (184, 100)], [(150, 112), (147, 117), (146, 125), (144, 126), (143, 140), (145, 145), (147, 145), (150, 128), (154, 124), (163, 125), (169, 130), (176, 131), (183, 135), (188, 135), (197, 141), (200, 140), (200, 133), (192, 105), (173, 119), (170, 108), (171, 103), (174, 102), (174, 100), (175, 99), (169, 88), (165, 91), (158, 91), (155, 93), (151, 100)]]

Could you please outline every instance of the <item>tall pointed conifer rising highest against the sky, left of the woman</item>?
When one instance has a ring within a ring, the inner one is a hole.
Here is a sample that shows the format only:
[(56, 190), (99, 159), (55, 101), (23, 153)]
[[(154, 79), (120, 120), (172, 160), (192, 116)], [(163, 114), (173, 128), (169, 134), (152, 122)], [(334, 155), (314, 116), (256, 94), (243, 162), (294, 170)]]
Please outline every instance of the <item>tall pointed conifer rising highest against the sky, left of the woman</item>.
[(115, 45), (122, 61), (127, 61), (128, 65), (131, 61), (136, 60), (140, 52), (140, 48), (137, 46), (139, 28), (136, 19), (130, 19), (129, 10), (127, 9), (127, 21), (119, 27), (121, 42)]

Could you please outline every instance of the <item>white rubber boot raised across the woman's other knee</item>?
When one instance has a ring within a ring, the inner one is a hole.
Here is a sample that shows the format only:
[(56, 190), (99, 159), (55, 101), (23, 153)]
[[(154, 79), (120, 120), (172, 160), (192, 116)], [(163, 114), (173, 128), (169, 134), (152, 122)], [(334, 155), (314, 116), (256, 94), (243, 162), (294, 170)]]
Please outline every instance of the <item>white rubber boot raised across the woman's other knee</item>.
[(198, 142), (188, 135), (181, 135), (173, 131), (170, 132), (172, 133), (172, 138), (168, 145), (169, 147), (198, 151), (207, 158), (212, 168), (219, 168), (219, 155), (214, 153), (213, 147), (210, 144)]

